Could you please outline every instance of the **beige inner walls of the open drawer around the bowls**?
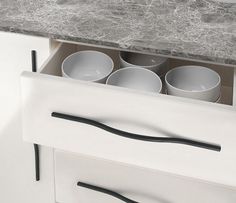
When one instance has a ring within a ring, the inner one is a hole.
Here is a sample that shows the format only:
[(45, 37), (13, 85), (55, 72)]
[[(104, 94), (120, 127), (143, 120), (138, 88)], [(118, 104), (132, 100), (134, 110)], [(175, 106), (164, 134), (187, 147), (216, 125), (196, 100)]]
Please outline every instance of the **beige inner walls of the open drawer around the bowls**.
[[(111, 50), (106, 48), (99, 48), (99, 47), (91, 47), (85, 45), (78, 45), (78, 44), (70, 44), (70, 43), (63, 43), (61, 44), (61, 48), (55, 48), (55, 55), (54, 60), (51, 60), (45, 63), (42, 66), (40, 73), (49, 74), (54, 76), (62, 76), (61, 73), (61, 64), (63, 60), (69, 56), (70, 54), (82, 51), (82, 50), (97, 50), (109, 55), (114, 61), (114, 71), (119, 69), (120, 67), (120, 60), (119, 60), (119, 50)], [(178, 66), (183, 65), (200, 65), (204, 67), (208, 67), (214, 71), (216, 71), (221, 77), (221, 104), (225, 105), (232, 105), (233, 104), (233, 93), (234, 93), (234, 68), (233, 67), (226, 67), (223, 65), (215, 65), (215, 64), (207, 64), (202, 62), (195, 62), (195, 61), (187, 61), (183, 59), (169, 59), (169, 67), (167, 69), (173, 69)], [(166, 72), (168, 71), (166, 70)], [(163, 88), (165, 88), (165, 84), (163, 82)], [(165, 90), (163, 91), (165, 92)]]

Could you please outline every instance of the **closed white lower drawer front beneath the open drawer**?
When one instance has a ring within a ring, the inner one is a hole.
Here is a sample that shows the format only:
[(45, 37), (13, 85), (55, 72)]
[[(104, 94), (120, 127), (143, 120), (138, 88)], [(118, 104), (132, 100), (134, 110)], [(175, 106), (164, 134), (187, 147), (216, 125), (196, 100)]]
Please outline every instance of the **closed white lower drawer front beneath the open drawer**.
[(123, 197), (145, 203), (236, 202), (236, 188), (62, 151), (55, 152), (55, 184), (59, 203), (129, 202)]

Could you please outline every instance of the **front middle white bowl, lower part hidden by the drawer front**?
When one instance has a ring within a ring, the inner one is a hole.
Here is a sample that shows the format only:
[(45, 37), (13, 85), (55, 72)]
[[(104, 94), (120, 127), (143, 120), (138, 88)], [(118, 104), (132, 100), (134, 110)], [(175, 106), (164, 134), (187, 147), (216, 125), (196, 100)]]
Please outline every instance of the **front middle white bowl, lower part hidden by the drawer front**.
[(160, 93), (162, 90), (162, 82), (158, 75), (140, 67), (119, 69), (107, 78), (106, 83), (148, 92)]

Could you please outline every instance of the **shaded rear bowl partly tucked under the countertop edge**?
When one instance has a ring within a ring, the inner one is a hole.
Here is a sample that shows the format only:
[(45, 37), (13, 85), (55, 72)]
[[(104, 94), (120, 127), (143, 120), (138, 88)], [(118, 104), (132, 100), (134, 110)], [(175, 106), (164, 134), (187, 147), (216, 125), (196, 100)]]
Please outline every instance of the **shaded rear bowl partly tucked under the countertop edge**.
[(163, 75), (168, 68), (168, 59), (160, 56), (146, 55), (133, 52), (120, 52), (120, 67), (142, 67)]

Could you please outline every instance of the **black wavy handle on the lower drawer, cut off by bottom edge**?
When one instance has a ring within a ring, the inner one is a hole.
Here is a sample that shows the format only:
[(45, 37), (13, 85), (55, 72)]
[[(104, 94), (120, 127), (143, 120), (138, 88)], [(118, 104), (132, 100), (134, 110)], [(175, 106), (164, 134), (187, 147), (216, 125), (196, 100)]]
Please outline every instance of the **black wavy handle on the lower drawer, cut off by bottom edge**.
[(122, 200), (123, 202), (126, 202), (126, 203), (138, 203), (134, 200), (131, 200), (127, 197), (124, 197), (124, 196), (120, 195), (117, 192), (113, 192), (111, 190), (108, 190), (108, 189), (105, 189), (105, 188), (102, 188), (102, 187), (98, 187), (98, 186), (95, 186), (95, 185), (90, 185), (90, 184), (83, 183), (83, 182), (78, 182), (77, 185), (80, 186), (80, 187), (84, 187), (84, 188), (87, 188), (87, 189), (90, 189), (90, 190), (94, 190), (94, 191), (97, 191), (97, 192), (101, 192), (101, 193), (110, 195), (110, 196), (115, 197), (119, 200)]

